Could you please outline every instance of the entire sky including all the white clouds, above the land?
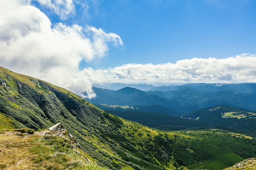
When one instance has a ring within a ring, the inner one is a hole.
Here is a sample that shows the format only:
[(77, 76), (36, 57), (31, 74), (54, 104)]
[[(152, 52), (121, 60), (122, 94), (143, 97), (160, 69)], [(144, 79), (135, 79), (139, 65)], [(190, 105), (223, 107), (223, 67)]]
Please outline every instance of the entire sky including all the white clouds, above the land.
[(0, 66), (94, 83), (256, 82), (256, 1), (1, 0)]

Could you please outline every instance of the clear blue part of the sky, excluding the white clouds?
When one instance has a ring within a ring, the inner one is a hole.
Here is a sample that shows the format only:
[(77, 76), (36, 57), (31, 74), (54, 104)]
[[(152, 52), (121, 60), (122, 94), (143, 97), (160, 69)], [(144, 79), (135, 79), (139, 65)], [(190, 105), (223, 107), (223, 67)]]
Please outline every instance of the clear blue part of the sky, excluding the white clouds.
[[(255, 53), (255, 1), (88, 1), (75, 15), (52, 23), (93, 25), (119, 35), (123, 46), (110, 47), (98, 62), (108, 69), (126, 63), (175, 63), (180, 59), (226, 58)], [(42, 7), (39, 8), (44, 11)]]

